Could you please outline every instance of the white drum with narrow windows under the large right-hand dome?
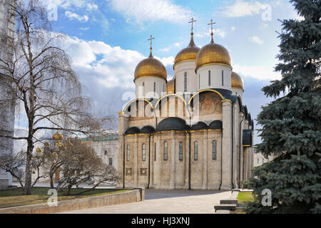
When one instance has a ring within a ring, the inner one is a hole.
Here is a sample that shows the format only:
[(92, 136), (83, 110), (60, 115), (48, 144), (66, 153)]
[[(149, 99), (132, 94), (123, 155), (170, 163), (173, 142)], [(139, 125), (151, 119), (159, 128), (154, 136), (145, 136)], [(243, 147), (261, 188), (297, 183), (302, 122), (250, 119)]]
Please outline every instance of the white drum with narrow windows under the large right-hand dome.
[[(210, 71), (210, 85), (208, 85), (208, 71)], [(222, 71), (224, 74), (224, 82), (222, 86)], [(231, 90), (231, 74), (232, 69), (224, 65), (208, 65), (201, 66), (197, 71), (198, 90), (206, 88), (222, 88)]]

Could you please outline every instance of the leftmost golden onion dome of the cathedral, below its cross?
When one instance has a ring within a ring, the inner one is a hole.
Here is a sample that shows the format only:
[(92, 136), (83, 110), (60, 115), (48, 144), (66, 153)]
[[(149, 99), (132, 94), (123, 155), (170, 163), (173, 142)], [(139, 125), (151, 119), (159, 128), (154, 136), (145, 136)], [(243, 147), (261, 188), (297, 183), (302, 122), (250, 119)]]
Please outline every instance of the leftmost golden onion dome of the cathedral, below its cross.
[(167, 72), (165, 66), (163, 65), (163, 63), (161, 63), (161, 61), (153, 58), (152, 53), (148, 58), (145, 58), (136, 66), (134, 81), (137, 78), (144, 76), (164, 78), (167, 81)]

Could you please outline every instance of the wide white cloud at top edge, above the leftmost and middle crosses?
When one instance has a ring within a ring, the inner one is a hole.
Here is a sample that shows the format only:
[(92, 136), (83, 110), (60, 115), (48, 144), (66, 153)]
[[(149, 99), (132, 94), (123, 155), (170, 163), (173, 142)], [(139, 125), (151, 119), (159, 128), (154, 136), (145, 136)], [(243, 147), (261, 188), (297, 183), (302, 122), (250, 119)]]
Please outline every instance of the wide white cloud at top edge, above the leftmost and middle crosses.
[(170, 0), (111, 0), (111, 6), (123, 14), (129, 22), (170, 21), (183, 23), (192, 16), (192, 11), (172, 3)]

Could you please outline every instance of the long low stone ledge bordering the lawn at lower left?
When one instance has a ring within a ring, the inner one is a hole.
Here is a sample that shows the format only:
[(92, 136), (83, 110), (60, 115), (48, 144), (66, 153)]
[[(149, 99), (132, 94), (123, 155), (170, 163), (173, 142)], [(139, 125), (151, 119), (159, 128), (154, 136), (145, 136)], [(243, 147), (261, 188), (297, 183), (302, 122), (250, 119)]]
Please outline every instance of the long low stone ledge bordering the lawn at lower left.
[(78, 209), (104, 207), (115, 204), (126, 204), (143, 201), (145, 189), (136, 189), (128, 192), (120, 192), (111, 195), (71, 199), (58, 202), (58, 206), (50, 207), (48, 204), (34, 204), (20, 207), (8, 207), (0, 209), (0, 214), (52, 214), (68, 212)]

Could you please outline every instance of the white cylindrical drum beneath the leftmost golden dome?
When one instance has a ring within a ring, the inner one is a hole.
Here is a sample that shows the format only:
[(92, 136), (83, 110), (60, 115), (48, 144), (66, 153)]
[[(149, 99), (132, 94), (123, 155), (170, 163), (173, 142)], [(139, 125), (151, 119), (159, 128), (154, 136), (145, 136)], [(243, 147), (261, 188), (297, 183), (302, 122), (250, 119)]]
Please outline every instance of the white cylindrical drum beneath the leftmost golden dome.
[[(143, 85), (144, 83), (144, 85)], [(156, 93), (154, 93), (154, 83), (156, 83)], [(164, 78), (146, 76), (137, 78), (136, 98), (161, 98), (165, 93), (166, 81)]]

